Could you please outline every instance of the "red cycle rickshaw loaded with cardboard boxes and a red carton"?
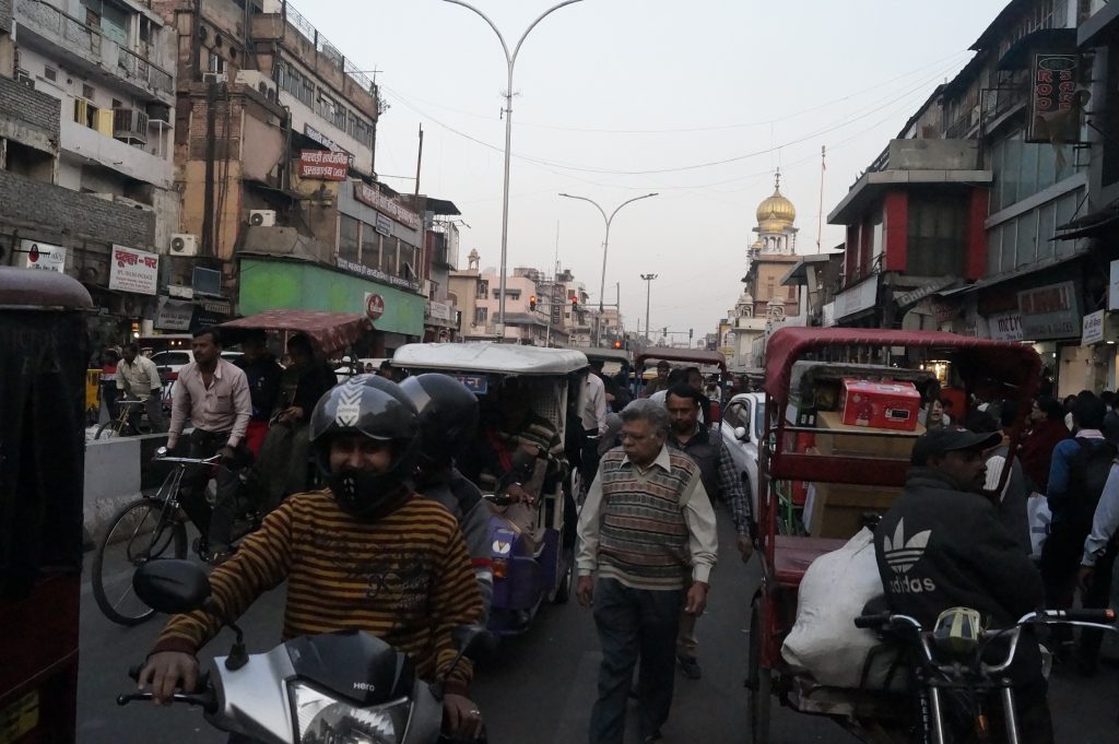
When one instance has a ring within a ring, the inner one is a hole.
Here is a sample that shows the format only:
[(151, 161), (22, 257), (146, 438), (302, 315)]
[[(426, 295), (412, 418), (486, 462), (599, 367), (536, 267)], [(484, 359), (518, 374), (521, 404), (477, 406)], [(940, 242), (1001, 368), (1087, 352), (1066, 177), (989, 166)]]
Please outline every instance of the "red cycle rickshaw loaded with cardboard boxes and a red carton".
[[(806, 360), (811, 362), (807, 367)], [(1018, 420), (1012, 431), (1013, 453), (1041, 379), (1041, 360), (1031, 346), (943, 332), (872, 329), (787, 328), (770, 339), (764, 382), (769, 415), (759, 463), (762, 582), (751, 605), (746, 678), (754, 744), (770, 741), (774, 696), (799, 713), (833, 718), (862, 741), (899, 741), (883, 734), (882, 721), (896, 715), (904, 701), (900, 704), (896, 696), (890, 698), (886, 694), (876, 698), (866, 690), (815, 684), (810, 676), (784, 661), (781, 648), (796, 620), (798, 588), (808, 566), (843, 547), (862, 528), (864, 510), (881, 515), (888, 508), (904, 483), (910, 468), (908, 451), (922, 427), (911, 432), (867, 427), (859, 432), (852, 431), (857, 427), (834, 424), (837, 418), (827, 411), (834, 408), (834, 398), (819, 395), (819, 399), (810, 399), (805, 389), (810, 376), (805, 370), (831, 373), (817, 375), (818, 379), (841, 380), (849, 376), (914, 383), (916, 388), (925, 389), (925, 399), (931, 403), (928, 386), (934, 388), (933, 393), (939, 389), (938, 377), (944, 376), (946, 367), (967, 395), (1019, 401)], [(796, 384), (793, 377), (799, 378)], [(931, 405), (928, 407), (931, 409)], [(826, 437), (835, 443), (840, 436), (847, 451), (824, 445)], [(874, 444), (865, 444), (875, 440)], [(864, 444), (852, 444), (857, 442)], [(1007, 464), (999, 490), (1009, 472)], [(805, 535), (799, 521), (788, 519), (789, 505), (782, 503), (788, 490), (779, 486), (788, 481), (814, 487), (854, 486), (857, 488), (849, 489), (847, 496), (872, 492), (877, 501), (853, 503), (836, 499), (833, 508), (816, 509), (812, 534)], [(896, 491), (890, 495), (883, 487)], [(828, 524), (829, 519), (833, 524)]]

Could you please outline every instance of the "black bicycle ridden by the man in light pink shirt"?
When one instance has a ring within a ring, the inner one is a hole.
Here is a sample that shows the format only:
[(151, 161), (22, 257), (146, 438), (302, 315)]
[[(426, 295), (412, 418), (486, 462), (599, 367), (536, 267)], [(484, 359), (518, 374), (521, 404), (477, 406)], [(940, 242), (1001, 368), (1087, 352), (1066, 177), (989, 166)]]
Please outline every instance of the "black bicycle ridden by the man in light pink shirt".
[[(132, 591), (135, 569), (149, 561), (187, 556), (189, 519), (179, 508), (179, 489), (187, 470), (225, 467), (220, 455), (206, 459), (168, 456), (167, 448), (160, 448), (153, 461), (171, 463), (171, 472), (154, 496), (131, 501), (110, 518), (93, 558), (93, 599), (105, 618), (126, 627), (139, 625), (156, 613)], [(238, 495), (242, 500), (247, 496), (246, 480), (243, 475)], [(234, 526), (234, 540), (260, 527), (261, 518), (252, 505), (242, 509)], [(200, 561), (208, 563), (203, 544), (204, 540), (196, 540), (195, 552)]]

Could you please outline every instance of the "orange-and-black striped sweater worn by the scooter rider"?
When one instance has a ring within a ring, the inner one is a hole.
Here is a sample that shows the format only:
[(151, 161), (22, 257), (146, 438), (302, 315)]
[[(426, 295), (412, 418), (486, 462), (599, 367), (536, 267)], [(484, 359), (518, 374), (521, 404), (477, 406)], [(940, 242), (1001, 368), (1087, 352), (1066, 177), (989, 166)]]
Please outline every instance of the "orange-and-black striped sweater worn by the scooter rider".
[[(299, 493), (210, 575), (214, 600), (231, 618), (284, 580), (284, 640), (358, 628), (406, 653), (427, 680), (454, 658), (451, 631), (482, 613), (454, 517), (415, 496), (367, 522), (339, 509), (329, 491)], [(196, 653), (218, 630), (208, 613), (176, 615), (152, 652)], [(470, 677), (463, 660), (448, 690), (466, 693)]]

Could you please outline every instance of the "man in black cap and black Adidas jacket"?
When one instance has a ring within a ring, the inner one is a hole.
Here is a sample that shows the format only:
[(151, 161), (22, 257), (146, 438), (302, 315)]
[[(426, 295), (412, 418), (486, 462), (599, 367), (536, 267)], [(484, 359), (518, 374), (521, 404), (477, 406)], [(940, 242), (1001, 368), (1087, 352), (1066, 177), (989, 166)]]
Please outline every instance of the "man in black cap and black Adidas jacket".
[[(1044, 603), (1041, 576), (982, 495), (984, 452), (997, 433), (934, 428), (913, 445), (905, 490), (875, 529), (874, 552), (890, 609), (931, 630), (949, 608), (978, 610), (988, 628), (1010, 628)], [(1005, 648), (993, 648), (993, 654)], [(1023, 742), (1051, 744), (1037, 641), (1023, 633), (1014, 681)], [(1002, 715), (991, 715), (1000, 723)]]

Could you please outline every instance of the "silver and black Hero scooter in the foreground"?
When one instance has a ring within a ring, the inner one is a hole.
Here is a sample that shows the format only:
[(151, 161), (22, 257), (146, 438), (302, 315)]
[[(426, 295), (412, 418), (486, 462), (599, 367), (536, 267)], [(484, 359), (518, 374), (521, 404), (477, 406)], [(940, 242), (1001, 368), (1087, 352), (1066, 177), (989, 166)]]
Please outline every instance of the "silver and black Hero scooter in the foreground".
[[(267, 744), (433, 744), (445, 742), (443, 684), (463, 657), (482, 652), (492, 637), (480, 625), (457, 633), (459, 653), (435, 682), (416, 677), (407, 658), (359, 630), (293, 638), (250, 654), (244, 633), (210, 600), (209, 578), (198, 564), (166, 559), (144, 564), (134, 588), (160, 612), (206, 610), (236, 638), (215, 659), (217, 676), (199, 676), (195, 689), (171, 701), (198, 706), (215, 728)], [(142, 665), (129, 675), (138, 680)], [(150, 700), (151, 693), (116, 698), (117, 705)]]

